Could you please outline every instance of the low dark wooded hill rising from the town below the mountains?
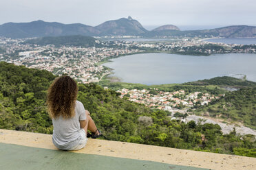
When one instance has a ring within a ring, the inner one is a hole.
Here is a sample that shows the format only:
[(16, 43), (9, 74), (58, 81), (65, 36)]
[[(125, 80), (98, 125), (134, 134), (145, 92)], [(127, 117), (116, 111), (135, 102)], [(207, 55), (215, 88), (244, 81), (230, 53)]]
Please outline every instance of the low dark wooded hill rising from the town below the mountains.
[(79, 46), (79, 47), (98, 47), (99, 44), (95, 42), (96, 39), (91, 36), (47, 36), (43, 38), (35, 38), (26, 40), (24, 43), (35, 45), (55, 45), (59, 47), (65, 46)]

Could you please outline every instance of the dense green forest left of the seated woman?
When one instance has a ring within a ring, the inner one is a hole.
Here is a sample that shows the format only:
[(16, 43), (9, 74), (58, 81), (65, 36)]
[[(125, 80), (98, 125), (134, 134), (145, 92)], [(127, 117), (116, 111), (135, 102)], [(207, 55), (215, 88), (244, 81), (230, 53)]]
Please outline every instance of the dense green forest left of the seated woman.
[(50, 134), (45, 97), (54, 77), (48, 71), (0, 62), (0, 127)]

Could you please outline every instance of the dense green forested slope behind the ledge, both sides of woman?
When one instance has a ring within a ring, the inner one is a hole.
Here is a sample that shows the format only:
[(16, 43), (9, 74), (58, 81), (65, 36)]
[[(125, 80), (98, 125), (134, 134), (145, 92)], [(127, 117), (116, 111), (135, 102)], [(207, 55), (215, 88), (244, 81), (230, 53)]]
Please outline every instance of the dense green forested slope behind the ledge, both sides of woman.
[[(47, 71), (0, 62), (0, 128), (51, 134), (45, 95), (54, 78)], [(219, 125), (209, 123), (171, 121), (169, 112), (118, 95), (96, 84), (79, 84), (78, 100), (107, 140), (256, 157), (255, 136), (223, 135)]]

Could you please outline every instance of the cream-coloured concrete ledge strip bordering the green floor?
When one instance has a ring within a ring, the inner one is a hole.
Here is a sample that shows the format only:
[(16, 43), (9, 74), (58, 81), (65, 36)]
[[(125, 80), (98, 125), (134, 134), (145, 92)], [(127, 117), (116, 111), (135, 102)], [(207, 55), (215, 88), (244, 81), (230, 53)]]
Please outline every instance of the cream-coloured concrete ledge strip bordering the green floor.
[[(0, 129), (0, 143), (43, 149), (57, 149), (52, 144), (52, 135), (32, 132)], [(171, 165), (183, 165), (205, 169), (256, 169), (256, 158), (135, 143), (96, 140), (91, 138), (89, 138), (85, 148), (72, 152), (136, 160), (150, 160)]]

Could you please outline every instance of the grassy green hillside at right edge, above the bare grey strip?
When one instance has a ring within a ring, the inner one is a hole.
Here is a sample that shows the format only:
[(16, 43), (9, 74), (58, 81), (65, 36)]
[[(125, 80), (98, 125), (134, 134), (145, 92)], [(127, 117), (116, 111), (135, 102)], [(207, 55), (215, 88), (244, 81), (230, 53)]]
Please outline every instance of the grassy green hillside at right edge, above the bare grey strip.
[(209, 112), (212, 117), (239, 121), (256, 130), (256, 87), (226, 93), (222, 99), (198, 108), (194, 112), (195, 114)]

